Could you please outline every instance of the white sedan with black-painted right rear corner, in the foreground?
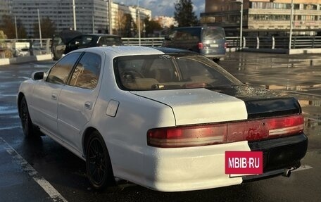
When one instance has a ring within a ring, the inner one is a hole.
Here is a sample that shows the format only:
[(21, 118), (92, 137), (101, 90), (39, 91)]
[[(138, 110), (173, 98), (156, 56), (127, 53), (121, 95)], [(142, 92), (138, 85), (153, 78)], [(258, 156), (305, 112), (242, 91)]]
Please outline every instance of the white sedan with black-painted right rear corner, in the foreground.
[[(96, 189), (114, 177), (187, 191), (289, 176), (308, 144), (296, 99), (178, 49), (73, 51), (20, 85), (18, 111), (25, 136), (40, 130), (85, 160)], [(263, 173), (226, 174), (226, 151), (262, 151)]]

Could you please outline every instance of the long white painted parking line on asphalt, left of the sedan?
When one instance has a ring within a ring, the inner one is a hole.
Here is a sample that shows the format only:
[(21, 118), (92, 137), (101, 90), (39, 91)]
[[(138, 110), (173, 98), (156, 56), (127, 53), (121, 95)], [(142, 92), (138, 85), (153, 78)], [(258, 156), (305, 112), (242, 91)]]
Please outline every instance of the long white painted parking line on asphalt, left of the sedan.
[(10, 146), (10, 144), (8, 144), (2, 137), (0, 137), (0, 141), (4, 143), (4, 149), (6, 149), (6, 151), (10, 154), (11, 158), (13, 158), (13, 160), (15, 160), (15, 162), (20, 165), (20, 167), (27, 172), (27, 174), (30, 175), (32, 179), (34, 179), (34, 181), (37, 182), (40, 187), (42, 187), (42, 189), (44, 189), (44, 191), (46, 191), (53, 201), (67, 202), (67, 200), (65, 200), (65, 198), (63, 198), (63, 196), (61, 196), (61, 194), (55, 188), (53, 188), (52, 185), (46, 181), (46, 179), (44, 179), (44, 177), (39, 175), (37, 170), (34, 170), (34, 168), (27, 163), (27, 160), (20, 156), (20, 154), (15, 151), (12, 146)]

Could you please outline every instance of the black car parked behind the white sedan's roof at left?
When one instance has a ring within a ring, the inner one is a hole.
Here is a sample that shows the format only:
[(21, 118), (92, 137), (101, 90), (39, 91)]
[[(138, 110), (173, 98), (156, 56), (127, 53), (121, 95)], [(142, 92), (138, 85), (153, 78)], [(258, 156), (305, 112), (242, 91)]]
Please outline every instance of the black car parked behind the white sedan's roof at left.
[(77, 31), (63, 31), (53, 36), (51, 53), (53, 60), (59, 60), (64, 54), (77, 49), (95, 46), (121, 46), (122, 39), (112, 34), (82, 34)]

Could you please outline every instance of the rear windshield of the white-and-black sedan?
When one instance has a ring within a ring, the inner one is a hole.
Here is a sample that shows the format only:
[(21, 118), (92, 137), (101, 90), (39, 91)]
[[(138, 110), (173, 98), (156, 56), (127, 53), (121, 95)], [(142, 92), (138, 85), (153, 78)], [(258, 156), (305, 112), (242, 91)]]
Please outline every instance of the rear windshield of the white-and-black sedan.
[(242, 85), (219, 65), (197, 55), (121, 56), (114, 59), (120, 89), (190, 89)]

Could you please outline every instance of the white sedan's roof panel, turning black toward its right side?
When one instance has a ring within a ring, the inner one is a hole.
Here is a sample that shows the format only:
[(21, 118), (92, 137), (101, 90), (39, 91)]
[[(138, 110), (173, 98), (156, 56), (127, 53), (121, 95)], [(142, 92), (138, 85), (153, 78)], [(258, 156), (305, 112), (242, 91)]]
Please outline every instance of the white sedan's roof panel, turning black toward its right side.
[(183, 49), (172, 49), (166, 47), (146, 47), (146, 46), (99, 46), (93, 48), (85, 48), (77, 50), (91, 51), (96, 53), (105, 53), (111, 57), (118, 56), (137, 56), (137, 55), (159, 55), (159, 54), (195, 54), (193, 51), (183, 50)]

